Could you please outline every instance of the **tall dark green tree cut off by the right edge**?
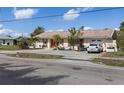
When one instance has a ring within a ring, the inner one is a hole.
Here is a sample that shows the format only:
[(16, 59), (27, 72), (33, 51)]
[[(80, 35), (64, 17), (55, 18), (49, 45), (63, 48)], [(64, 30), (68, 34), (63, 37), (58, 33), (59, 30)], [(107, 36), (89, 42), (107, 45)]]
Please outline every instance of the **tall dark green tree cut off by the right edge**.
[(118, 46), (121, 51), (124, 52), (124, 22), (120, 24), (120, 31), (117, 36)]

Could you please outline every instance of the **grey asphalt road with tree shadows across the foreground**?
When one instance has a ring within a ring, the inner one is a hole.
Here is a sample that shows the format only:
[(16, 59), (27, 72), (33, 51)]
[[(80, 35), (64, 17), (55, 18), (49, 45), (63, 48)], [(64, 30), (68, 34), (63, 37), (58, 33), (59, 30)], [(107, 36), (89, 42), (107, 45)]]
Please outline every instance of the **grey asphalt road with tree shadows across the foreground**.
[(0, 54), (0, 85), (124, 84), (124, 68), (65, 59), (23, 59)]

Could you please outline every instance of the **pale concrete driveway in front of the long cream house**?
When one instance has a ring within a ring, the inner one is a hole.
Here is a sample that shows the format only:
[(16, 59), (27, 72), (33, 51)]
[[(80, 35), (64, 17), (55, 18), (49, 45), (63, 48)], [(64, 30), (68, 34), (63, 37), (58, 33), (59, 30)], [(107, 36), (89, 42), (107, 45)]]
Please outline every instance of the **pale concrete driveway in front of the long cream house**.
[(52, 49), (0, 51), (0, 53), (16, 53), (16, 52), (63, 55), (64, 58), (67, 58), (67, 59), (82, 59), (82, 60), (92, 60), (93, 58), (100, 57), (101, 55), (99, 53), (89, 54), (86, 51), (52, 50)]

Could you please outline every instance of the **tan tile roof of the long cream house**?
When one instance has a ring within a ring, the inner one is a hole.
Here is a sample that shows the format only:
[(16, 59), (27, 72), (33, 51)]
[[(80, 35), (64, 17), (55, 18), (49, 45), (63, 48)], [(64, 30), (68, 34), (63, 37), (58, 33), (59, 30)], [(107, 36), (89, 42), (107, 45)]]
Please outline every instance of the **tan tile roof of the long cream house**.
[[(111, 38), (114, 30), (112, 29), (97, 29), (97, 30), (85, 30), (81, 31), (83, 35), (81, 38)], [(68, 31), (64, 32), (44, 32), (42, 34), (37, 35), (40, 38), (53, 38), (54, 35), (59, 34), (62, 38), (67, 38), (70, 33)]]

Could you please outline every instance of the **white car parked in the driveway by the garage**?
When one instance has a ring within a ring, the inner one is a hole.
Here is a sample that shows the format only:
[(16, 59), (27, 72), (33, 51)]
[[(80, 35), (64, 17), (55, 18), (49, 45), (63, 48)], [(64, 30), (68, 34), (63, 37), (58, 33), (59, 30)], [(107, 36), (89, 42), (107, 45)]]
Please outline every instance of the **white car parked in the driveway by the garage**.
[(97, 52), (97, 53), (100, 53), (100, 52), (103, 52), (103, 47), (101, 44), (99, 43), (91, 43), (88, 48), (87, 48), (87, 52), (88, 53), (91, 53), (91, 52)]

